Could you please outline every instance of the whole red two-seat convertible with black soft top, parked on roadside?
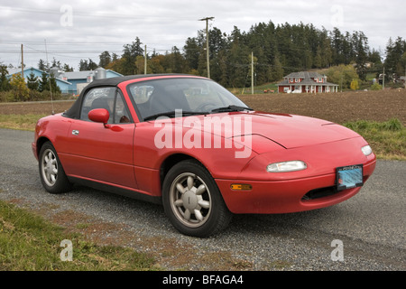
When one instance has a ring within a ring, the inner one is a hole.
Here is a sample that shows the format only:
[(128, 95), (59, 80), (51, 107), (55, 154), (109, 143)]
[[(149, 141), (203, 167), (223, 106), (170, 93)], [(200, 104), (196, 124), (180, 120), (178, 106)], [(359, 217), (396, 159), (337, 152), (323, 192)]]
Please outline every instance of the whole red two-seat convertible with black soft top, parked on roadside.
[(78, 183), (161, 203), (175, 228), (201, 238), (233, 214), (347, 200), (376, 163), (344, 126), (254, 111), (211, 79), (178, 74), (91, 82), (38, 121), (32, 151), (46, 191)]

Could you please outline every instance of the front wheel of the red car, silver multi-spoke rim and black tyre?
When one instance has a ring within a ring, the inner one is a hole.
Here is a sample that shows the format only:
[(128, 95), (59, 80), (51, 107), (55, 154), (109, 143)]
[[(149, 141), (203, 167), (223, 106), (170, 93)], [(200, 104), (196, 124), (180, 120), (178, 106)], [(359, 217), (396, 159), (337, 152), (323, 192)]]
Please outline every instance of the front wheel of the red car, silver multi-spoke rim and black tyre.
[(175, 164), (166, 174), (162, 203), (173, 227), (188, 236), (207, 238), (226, 228), (232, 219), (217, 183), (193, 160)]

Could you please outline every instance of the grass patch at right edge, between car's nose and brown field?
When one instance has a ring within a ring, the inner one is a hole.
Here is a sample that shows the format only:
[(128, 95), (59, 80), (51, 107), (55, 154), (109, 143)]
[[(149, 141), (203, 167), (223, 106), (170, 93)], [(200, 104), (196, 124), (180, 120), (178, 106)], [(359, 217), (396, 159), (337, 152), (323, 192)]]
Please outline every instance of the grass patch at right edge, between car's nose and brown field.
[(399, 119), (385, 122), (359, 120), (344, 126), (363, 135), (378, 158), (406, 161), (406, 128)]

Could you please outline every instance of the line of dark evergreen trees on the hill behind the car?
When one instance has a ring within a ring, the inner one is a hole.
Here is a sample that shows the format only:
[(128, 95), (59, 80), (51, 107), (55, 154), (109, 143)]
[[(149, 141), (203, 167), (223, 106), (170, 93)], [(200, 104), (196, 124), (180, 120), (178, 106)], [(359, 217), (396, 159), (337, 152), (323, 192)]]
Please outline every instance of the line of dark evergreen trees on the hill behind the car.
[[(143, 42), (136, 37), (134, 42), (123, 46), (121, 55), (103, 51), (98, 63), (91, 59), (80, 60), (78, 69), (95, 70), (100, 66), (123, 75), (143, 74), (146, 54), (147, 73), (207, 76), (206, 36), (206, 32), (200, 30), (197, 36), (185, 41), (181, 50), (173, 46), (171, 51), (163, 54), (144, 51)], [(349, 65), (361, 81), (371, 72), (378, 78), (383, 66), (387, 80), (406, 73), (406, 41), (401, 37), (389, 39), (384, 59), (382, 51), (370, 48), (363, 32), (341, 32), (338, 28), (328, 31), (313, 24), (257, 23), (248, 32), (242, 32), (235, 26), (229, 34), (213, 27), (208, 32), (208, 40), (210, 77), (227, 88), (251, 84), (252, 61), (255, 85), (279, 81), (294, 71)], [(73, 70), (55, 59), (52, 65), (59, 66), (61, 70)], [(42, 60), (39, 69), (48, 69)], [(0, 83), (0, 89), (3, 86), (3, 82)]]

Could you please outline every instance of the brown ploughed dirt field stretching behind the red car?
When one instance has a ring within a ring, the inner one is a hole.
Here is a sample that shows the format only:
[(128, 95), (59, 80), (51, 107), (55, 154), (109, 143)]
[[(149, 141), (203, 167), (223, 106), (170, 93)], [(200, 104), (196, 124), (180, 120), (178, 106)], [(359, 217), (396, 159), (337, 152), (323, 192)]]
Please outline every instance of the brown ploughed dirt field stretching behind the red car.
[[(339, 124), (355, 120), (386, 121), (397, 117), (406, 125), (406, 89), (351, 91), (328, 94), (257, 94), (238, 96), (255, 110), (318, 117)], [(72, 101), (54, 102), (55, 113)], [(51, 103), (0, 104), (0, 114), (51, 114)]]

